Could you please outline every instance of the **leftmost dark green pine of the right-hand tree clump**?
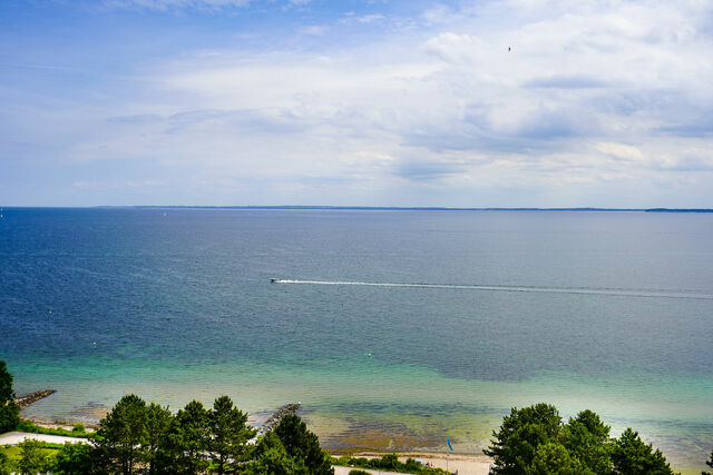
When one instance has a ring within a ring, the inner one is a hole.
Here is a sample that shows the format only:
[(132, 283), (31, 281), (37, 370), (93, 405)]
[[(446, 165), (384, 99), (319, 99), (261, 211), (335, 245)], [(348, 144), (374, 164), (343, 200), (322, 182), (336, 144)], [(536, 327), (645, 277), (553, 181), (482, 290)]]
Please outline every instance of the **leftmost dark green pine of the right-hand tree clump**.
[(514, 407), (505, 416), (495, 439), (482, 452), (494, 458), (490, 473), (527, 473), (539, 445), (557, 442), (561, 431), (561, 417), (555, 406), (540, 403), (522, 409)]

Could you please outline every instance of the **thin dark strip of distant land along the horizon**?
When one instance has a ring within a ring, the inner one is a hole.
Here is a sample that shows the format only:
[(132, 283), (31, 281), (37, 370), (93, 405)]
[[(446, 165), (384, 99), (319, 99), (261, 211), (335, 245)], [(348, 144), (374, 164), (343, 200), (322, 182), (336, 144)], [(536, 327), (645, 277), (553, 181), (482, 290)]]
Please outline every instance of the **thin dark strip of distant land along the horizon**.
[[(438, 206), (188, 206), (188, 205), (101, 205), (101, 206), (6, 206), (4, 209), (241, 209), (241, 210), (345, 210), (345, 211), (588, 211), (588, 212), (713, 212), (713, 208), (449, 208)], [(0, 208), (2, 209), (2, 208)]]

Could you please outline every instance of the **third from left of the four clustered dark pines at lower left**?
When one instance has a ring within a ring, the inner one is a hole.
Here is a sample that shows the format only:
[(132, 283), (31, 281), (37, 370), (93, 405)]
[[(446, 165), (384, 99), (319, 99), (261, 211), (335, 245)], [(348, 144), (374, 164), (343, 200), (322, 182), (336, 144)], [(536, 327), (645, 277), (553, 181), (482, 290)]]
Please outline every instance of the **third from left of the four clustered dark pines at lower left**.
[(208, 412), (192, 400), (170, 422), (156, 457), (159, 473), (197, 474), (208, 467)]

